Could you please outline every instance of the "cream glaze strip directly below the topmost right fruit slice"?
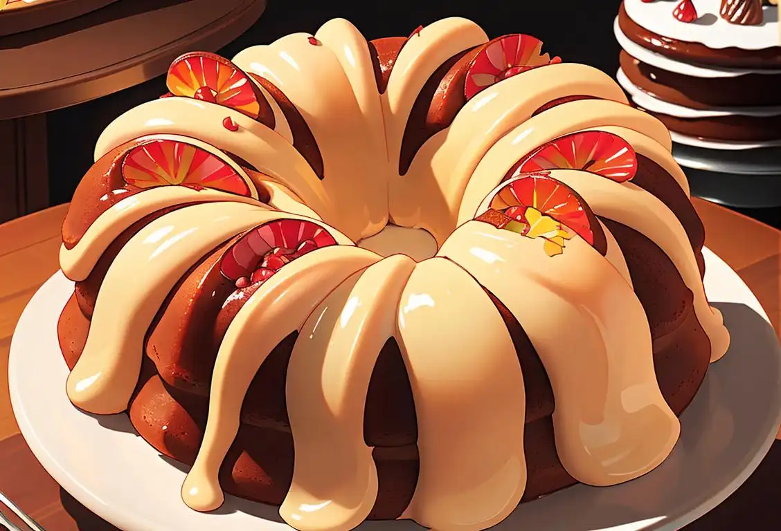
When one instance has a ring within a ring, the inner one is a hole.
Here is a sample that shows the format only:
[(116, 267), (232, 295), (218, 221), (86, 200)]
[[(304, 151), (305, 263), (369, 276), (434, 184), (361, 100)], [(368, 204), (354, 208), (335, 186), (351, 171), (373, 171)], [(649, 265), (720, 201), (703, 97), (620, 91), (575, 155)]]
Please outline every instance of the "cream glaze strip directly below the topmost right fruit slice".
[(488, 87), (423, 144), (406, 175), (392, 178), (391, 218), (425, 228), (441, 245), (456, 226), (466, 182), (491, 144), (544, 104), (572, 94), (627, 102), (607, 74), (586, 65), (549, 65)]

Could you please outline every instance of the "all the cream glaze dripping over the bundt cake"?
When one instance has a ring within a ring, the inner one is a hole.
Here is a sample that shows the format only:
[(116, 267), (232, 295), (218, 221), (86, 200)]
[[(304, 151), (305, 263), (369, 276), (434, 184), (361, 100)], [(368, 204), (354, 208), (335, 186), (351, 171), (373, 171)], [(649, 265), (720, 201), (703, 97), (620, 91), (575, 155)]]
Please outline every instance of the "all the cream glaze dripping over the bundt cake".
[[(547, 175), (596, 216), (590, 219), (604, 232), (604, 256), (542, 207), (526, 211), (523, 222), (534, 226), (520, 232), (475, 221), (493, 208), (502, 186), (528, 177), (502, 182), (524, 155), (581, 131), (626, 140), (688, 197), (665, 127), (630, 108), (603, 73), (541, 65), (473, 95), (448, 128), (423, 143), (408, 172), (398, 173), (411, 109), (426, 80), (449, 58), (487, 42), (465, 19), (423, 27), (402, 45), (380, 94), (369, 44), (348, 22), (333, 20), (315, 36), (290, 35), (234, 59), (254, 75), (241, 77), (257, 83), (252, 94), (266, 99), (257, 105), (266, 109), (265, 122), (253, 118), (254, 104), (242, 112), (216, 97), (173, 95), (120, 116), (98, 140), (101, 159), (125, 143), (165, 135), (234, 161), (231, 167), (255, 189), (248, 197), (172, 184), (131, 190), (75, 246), (62, 247), (63, 271), (84, 280), (130, 225), (179, 207), (132, 236), (105, 275), (87, 345), (68, 380), (71, 401), (89, 412), (127, 408), (155, 313), (209, 252), (284, 219), (306, 218), (337, 242), (231, 296), (243, 305), (219, 344), (204, 439), (182, 487), (191, 508), (222, 504), (219, 468), (252, 378), (276, 345), (297, 332), (286, 381), (294, 471), (280, 507), (290, 526), (347, 531), (372, 511), (378, 473), (363, 423), (373, 368), (389, 339), (398, 343), (418, 419), (418, 483), (401, 518), (437, 531), (480, 531), (501, 522), (526, 490), (526, 388), (514, 340), (487, 291), (522, 325), (544, 364), (556, 399), (556, 451), (576, 480), (600, 486), (632, 480), (672, 451), (679, 421), (656, 381), (649, 323), (622, 249), (600, 218), (643, 233), (672, 260), (693, 294), (711, 359), (719, 359), (729, 336), (705, 299), (676, 213), (631, 180), (615, 182), (586, 167)], [(255, 76), (298, 109), (322, 156), (322, 175), (293, 145), (301, 124), (285, 118), (287, 103)], [(571, 96), (592, 99), (537, 112)], [(222, 126), (226, 116), (237, 130)], [(267, 204), (258, 200), (259, 189)], [(72, 207), (69, 216), (78, 215)], [(391, 222), (429, 232), (437, 256), (383, 258), (355, 246)], [(557, 237), (561, 253), (551, 256), (546, 244)], [(237, 263), (247, 263), (241, 258)]]

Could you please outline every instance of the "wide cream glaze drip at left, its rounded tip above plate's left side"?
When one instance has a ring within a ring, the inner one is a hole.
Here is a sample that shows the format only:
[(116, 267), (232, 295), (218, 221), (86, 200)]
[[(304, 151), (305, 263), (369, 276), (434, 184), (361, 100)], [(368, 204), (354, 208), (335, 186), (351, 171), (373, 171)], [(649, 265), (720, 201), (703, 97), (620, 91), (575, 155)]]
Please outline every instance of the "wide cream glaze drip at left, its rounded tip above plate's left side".
[(134, 235), (98, 292), (87, 343), (66, 384), (73, 405), (98, 414), (127, 409), (144, 335), (173, 285), (210, 250), (270, 217), (279, 213), (248, 204), (198, 204), (155, 219)]

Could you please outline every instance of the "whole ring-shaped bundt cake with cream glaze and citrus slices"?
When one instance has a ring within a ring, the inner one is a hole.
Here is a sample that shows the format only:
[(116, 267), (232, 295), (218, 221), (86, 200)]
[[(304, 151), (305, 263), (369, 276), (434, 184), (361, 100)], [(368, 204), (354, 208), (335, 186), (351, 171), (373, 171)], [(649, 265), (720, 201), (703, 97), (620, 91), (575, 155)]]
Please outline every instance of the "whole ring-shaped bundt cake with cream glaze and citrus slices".
[(600, 71), (444, 19), (184, 55), (62, 227), (80, 409), (295, 529), (487, 529), (665, 460), (729, 335), (670, 136)]

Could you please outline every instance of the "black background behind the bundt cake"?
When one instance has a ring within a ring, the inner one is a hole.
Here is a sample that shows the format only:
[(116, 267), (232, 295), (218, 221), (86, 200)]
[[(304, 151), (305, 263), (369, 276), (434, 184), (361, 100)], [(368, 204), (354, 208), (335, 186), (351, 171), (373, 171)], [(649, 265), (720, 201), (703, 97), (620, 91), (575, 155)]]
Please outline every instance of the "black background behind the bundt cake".
[[(219, 0), (214, 0), (219, 2)], [(218, 53), (232, 58), (253, 44), (268, 44), (286, 34), (315, 33), (327, 20), (350, 20), (368, 39), (407, 36), (416, 27), (447, 16), (464, 16), (489, 37), (525, 33), (540, 38), (544, 51), (565, 62), (592, 65), (615, 76), (619, 45), (613, 19), (619, 0), (269, 0), (268, 9), (250, 30)], [(128, 109), (166, 92), (163, 76), (87, 104), (48, 114), (48, 155), (52, 204), (70, 201), (92, 164), (102, 130)], [(781, 209), (744, 211), (779, 226)]]

